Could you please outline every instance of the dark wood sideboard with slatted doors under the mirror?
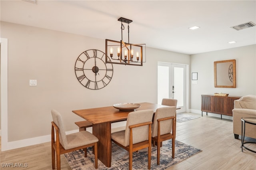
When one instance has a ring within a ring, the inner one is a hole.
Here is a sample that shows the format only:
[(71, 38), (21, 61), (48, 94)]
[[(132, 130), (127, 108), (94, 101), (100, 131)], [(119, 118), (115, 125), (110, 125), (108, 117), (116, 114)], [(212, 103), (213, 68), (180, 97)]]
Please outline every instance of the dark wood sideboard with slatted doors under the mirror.
[(222, 115), (233, 116), (234, 101), (240, 99), (239, 96), (215, 96), (201, 95), (201, 111), (216, 113)]

